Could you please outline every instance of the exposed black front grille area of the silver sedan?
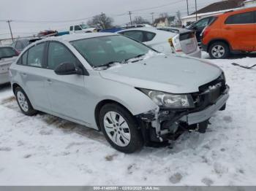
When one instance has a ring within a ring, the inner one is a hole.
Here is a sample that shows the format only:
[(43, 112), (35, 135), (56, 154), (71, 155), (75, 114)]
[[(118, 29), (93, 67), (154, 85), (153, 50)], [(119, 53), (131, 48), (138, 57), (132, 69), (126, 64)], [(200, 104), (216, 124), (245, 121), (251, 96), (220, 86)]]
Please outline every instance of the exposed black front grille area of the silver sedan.
[(200, 86), (199, 93), (192, 95), (197, 109), (205, 109), (207, 106), (217, 102), (219, 96), (225, 91), (226, 82), (223, 76), (222, 74), (218, 79)]

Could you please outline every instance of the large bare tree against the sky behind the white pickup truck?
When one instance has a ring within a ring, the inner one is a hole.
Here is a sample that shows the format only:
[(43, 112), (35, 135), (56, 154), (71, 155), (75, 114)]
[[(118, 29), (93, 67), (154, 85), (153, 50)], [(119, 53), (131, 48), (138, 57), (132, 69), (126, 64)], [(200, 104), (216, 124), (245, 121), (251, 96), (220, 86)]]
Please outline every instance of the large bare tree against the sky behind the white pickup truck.
[(108, 17), (107, 15), (105, 15), (105, 13), (102, 13), (101, 15), (95, 15), (94, 17), (92, 17), (92, 19), (89, 20), (87, 24), (89, 26), (105, 29), (113, 28), (113, 22), (114, 20), (112, 17)]

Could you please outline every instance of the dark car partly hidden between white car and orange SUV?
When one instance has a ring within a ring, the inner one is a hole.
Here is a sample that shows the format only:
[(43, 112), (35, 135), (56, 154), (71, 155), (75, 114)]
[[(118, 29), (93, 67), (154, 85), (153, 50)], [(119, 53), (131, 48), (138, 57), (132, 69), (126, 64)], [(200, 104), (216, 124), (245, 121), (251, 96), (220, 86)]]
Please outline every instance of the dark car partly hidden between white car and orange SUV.
[(201, 34), (203, 29), (206, 28), (206, 26), (208, 26), (211, 22), (213, 22), (214, 19), (216, 19), (216, 16), (205, 17), (186, 27), (187, 29), (195, 30), (195, 36), (197, 36), (198, 44), (201, 44)]

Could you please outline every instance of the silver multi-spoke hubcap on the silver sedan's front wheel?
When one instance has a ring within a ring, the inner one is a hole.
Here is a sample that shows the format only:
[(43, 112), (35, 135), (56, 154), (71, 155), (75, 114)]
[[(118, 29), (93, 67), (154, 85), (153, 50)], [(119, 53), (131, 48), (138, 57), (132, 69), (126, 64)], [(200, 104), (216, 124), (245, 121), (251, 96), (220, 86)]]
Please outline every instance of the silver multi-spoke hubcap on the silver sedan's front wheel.
[(117, 112), (108, 112), (104, 116), (104, 128), (108, 137), (119, 147), (126, 147), (131, 139), (129, 126)]

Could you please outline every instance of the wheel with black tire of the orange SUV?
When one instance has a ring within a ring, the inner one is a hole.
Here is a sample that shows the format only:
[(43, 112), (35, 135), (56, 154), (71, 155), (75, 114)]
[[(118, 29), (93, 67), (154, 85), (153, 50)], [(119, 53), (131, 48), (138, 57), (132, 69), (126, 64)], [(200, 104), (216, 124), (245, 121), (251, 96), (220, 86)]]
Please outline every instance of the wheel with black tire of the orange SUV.
[(209, 47), (208, 53), (211, 59), (225, 59), (230, 55), (230, 48), (225, 42), (214, 42)]

